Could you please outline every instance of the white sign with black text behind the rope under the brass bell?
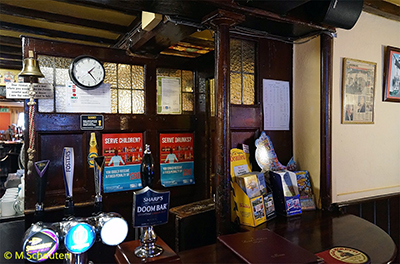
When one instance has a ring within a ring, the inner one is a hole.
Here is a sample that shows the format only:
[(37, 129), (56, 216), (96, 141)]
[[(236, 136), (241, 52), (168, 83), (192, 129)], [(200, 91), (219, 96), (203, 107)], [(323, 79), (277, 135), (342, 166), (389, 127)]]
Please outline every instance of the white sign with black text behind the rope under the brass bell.
[[(50, 83), (33, 83), (34, 99), (51, 99), (54, 96)], [(30, 83), (7, 83), (6, 97), (9, 99), (29, 99)]]

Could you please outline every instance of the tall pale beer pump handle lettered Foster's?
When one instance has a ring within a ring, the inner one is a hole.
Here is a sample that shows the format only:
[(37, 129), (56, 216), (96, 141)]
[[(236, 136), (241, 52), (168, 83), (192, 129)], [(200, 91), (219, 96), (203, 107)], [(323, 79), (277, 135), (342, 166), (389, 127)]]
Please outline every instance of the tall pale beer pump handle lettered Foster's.
[(64, 147), (63, 150), (63, 174), (65, 183), (65, 208), (64, 216), (74, 215), (74, 201), (72, 199), (72, 189), (74, 180), (74, 148)]

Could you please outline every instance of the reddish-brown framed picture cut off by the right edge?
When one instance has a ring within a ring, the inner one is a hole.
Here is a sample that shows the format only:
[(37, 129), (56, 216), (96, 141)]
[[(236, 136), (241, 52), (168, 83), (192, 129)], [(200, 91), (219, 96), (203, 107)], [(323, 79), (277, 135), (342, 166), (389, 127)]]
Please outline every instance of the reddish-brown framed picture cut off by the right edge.
[(385, 56), (383, 101), (400, 102), (400, 49), (388, 46)]

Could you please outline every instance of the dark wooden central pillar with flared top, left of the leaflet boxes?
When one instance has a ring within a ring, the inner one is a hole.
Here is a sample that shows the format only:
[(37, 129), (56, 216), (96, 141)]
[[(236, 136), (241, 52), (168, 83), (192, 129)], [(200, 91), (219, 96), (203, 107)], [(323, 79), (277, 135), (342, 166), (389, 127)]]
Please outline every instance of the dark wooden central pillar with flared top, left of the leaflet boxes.
[(215, 210), (217, 235), (230, 233), (230, 34), (229, 28), (244, 20), (244, 16), (224, 10), (218, 10), (207, 16), (203, 23), (210, 24), (215, 30), (215, 136), (214, 171), (216, 177)]

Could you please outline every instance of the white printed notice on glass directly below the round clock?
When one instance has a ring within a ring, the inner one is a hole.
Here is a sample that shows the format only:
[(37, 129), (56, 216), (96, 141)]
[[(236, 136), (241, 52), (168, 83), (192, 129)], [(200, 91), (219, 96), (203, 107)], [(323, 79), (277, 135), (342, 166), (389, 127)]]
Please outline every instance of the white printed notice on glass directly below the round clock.
[(111, 86), (103, 83), (96, 89), (81, 89), (72, 82), (65, 85), (65, 112), (111, 113)]

